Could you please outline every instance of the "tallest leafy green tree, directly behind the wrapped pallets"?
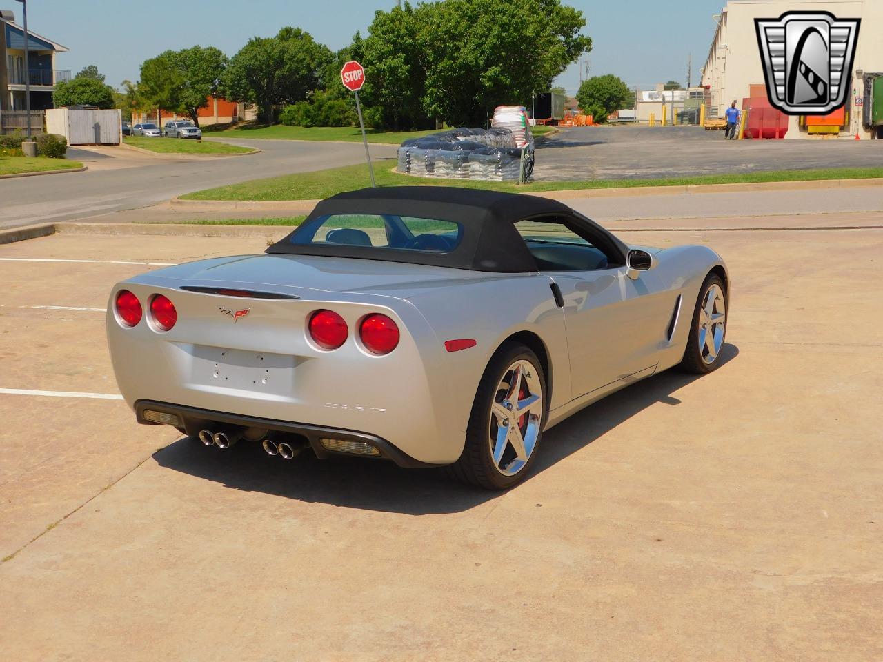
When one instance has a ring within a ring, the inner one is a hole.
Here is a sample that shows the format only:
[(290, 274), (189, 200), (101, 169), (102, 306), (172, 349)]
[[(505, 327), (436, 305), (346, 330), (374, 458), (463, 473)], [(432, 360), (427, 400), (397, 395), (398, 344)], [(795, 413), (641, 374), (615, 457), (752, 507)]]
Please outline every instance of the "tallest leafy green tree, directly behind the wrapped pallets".
[[(547, 90), (592, 49), (582, 12), (561, 0), (446, 0), (420, 5), (428, 29), (423, 109), (449, 124), (484, 124), (494, 106)], [(376, 20), (376, 19), (375, 19)]]

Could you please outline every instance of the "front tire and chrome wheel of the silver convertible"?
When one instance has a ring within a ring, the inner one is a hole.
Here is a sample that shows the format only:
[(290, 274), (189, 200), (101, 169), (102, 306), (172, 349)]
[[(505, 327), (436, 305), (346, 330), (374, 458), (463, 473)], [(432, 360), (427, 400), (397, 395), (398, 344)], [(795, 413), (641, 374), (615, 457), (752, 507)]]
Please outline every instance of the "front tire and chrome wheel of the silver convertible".
[(702, 283), (683, 352), (681, 369), (706, 374), (721, 365), (721, 350), (727, 335), (727, 286), (717, 274)]

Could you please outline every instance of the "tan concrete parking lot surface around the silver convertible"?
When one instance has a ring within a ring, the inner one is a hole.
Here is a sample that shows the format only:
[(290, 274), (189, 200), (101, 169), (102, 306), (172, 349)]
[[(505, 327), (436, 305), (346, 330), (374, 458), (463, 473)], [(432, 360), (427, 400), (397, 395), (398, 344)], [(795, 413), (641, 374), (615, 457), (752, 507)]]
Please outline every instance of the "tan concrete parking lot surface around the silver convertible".
[(263, 237), (0, 246), (2, 657), (883, 658), (883, 214), (856, 223), (630, 223), (728, 260), (726, 363), (570, 418), (504, 494), (207, 449), (74, 395), (117, 393), (114, 282)]

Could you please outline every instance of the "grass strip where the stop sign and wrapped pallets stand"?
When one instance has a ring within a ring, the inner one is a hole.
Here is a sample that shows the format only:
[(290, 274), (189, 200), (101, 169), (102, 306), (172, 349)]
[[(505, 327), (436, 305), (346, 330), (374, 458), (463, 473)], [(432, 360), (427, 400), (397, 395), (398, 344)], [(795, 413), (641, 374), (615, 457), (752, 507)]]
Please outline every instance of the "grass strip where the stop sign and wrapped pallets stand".
[[(471, 181), (468, 179), (435, 179), (411, 177), (393, 172), (391, 161), (374, 162), (378, 186), (434, 185), (459, 186), (471, 189), (531, 193), (539, 191), (573, 191), (578, 189), (638, 188), (643, 186), (684, 186), (695, 184), (753, 184), (759, 182), (800, 182), (825, 179), (861, 179), (883, 177), (883, 168), (842, 168), (821, 170), (780, 170), (739, 175), (703, 177), (672, 177), (667, 179), (600, 179), (573, 182), (510, 182)], [(359, 164), (301, 172), (268, 179), (253, 179), (240, 184), (219, 186), (206, 191), (182, 195), (191, 200), (301, 200), (323, 199), (344, 191), (370, 186), (366, 165)]]

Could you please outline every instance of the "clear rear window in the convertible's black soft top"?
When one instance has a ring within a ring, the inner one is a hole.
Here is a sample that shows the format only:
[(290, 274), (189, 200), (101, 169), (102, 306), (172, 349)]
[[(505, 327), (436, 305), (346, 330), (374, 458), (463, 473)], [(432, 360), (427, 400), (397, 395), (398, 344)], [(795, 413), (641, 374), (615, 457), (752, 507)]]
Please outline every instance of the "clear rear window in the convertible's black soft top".
[(328, 214), (307, 221), (291, 235), (291, 244), (338, 244), (377, 249), (444, 253), (457, 248), (457, 222), (391, 214)]

